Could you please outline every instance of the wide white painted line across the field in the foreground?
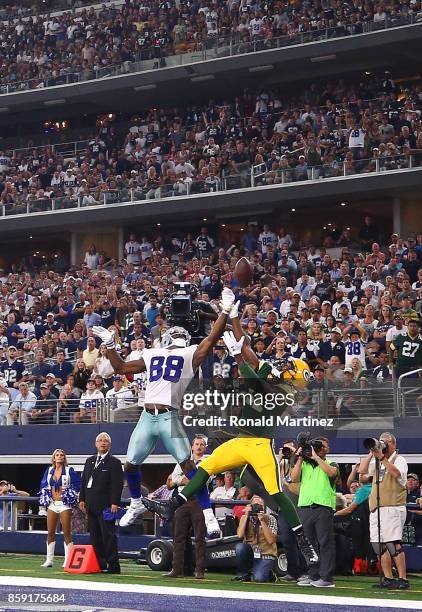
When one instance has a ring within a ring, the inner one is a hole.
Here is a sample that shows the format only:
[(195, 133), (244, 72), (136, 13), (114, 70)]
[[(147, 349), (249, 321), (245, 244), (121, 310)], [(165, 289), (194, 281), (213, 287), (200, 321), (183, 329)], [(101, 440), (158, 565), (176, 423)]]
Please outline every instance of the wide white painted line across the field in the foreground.
[[(0, 586), (34, 586), (33, 578), (31, 577), (16, 577), (16, 576), (0, 576)], [(303, 593), (268, 593), (268, 592), (251, 592), (251, 591), (213, 591), (211, 589), (194, 589), (186, 587), (163, 587), (149, 586), (145, 584), (118, 584), (104, 582), (86, 582), (83, 580), (56, 580), (54, 578), (37, 578), (38, 587), (46, 587), (57, 590), (72, 589), (79, 591), (112, 591), (120, 593), (139, 593), (150, 595), (173, 595), (184, 597), (206, 597), (208, 599), (250, 599), (255, 601), (276, 601), (276, 602), (293, 602), (306, 604), (321, 604), (333, 606), (357, 606), (377, 607), (377, 608), (393, 608), (407, 610), (422, 610), (422, 601), (404, 601), (398, 599), (390, 601), (388, 599), (366, 599), (364, 597), (338, 597), (337, 595), (321, 596), (316, 593), (312, 595), (304, 595)]]

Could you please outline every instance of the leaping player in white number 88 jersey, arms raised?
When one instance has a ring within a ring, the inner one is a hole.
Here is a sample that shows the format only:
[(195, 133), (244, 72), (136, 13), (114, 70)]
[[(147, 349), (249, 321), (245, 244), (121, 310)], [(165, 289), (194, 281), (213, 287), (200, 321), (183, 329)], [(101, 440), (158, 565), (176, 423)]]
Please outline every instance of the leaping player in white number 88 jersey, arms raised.
[[(163, 334), (161, 348), (144, 349), (141, 359), (130, 362), (124, 362), (117, 354), (112, 332), (103, 327), (93, 327), (94, 334), (106, 344), (116, 373), (137, 374), (144, 370), (147, 373), (144, 410), (132, 432), (127, 450), (125, 472), (131, 503), (120, 520), (121, 526), (132, 525), (145, 511), (141, 500), (139, 466), (152, 453), (159, 438), (188, 478), (195, 473), (195, 466), (190, 461), (191, 445), (179, 419), (178, 409), (195, 372), (221, 338), (234, 299), (231, 289), (223, 289), (220, 302), (222, 312), (210, 335), (199, 345), (189, 346), (189, 333), (183, 327), (172, 327)], [(208, 534), (219, 532), (206, 488), (200, 487), (198, 493)]]

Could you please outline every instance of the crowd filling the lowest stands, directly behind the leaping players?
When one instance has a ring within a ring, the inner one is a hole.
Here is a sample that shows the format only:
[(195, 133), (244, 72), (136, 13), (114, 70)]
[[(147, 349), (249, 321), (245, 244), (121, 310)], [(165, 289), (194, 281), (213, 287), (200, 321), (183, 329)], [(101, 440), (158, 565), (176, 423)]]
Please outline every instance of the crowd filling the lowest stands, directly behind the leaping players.
[[(233, 275), (241, 253), (254, 269), (253, 283), (244, 289)], [(318, 249), (284, 228), (276, 233), (268, 225), (259, 231), (250, 225), (242, 241), (229, 247), (216, 245), (207, 228), (198, 236), (157, 235), (152, 242), (130, 235), (125, 254), (116, 262), (92, 245), (81, 266), (69, 267), (60, 256), (51, 267), (48, 260), (41, 260), (41, 268), (23, 260), (1, 273), (3, 424), (18, 422), (25, 407), (25, 423), (52, 422), (57, 410), (64, 421), (95, 421), (98, 400), (107, 393), (120, 394), (116, 419), (127, 420), (125, 409), (142, 406), (145, 381), (128, 386), (124, 377), (113, 376), (92, 327), (113, 329), (122, 356), (138, 358), (146, 346), (159, 345), (165, 302), (180, 281), (194, 285), (197, 299), (216, 312), (222, 288), (232, 287), (257, 355), (309, 364), (314, 377), (295, 407), (300, 416), (318, 412), (307, 391), (341, 388), (333, 396), (333, 414), (352, 418), (353, 389), (378, 383), (391, 388), (393, 376), (422, 366), (422, 235), (381, 241), (365, 217), (355, 236), (333, 224)], [(216, 347), (213, 361), (214, 383), (220, 389), (232, 384), (237, 368), (224, 346)], [(414, 399), (418, 410), (421, 399)], [(387, 408), (391, 401), (381, 401), (381, 410)]]

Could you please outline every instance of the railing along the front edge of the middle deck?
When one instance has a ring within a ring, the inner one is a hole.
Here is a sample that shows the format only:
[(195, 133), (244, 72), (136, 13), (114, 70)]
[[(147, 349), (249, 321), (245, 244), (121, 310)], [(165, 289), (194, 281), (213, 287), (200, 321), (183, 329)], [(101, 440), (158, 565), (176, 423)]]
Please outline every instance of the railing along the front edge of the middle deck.
[[(422, 151), (421, 151), (422, 154)], [(285, 186), (292, 183), (311, 183), (324, 179), (344, 179), (353, 176), (367, 176), (368, 174), (392, 173), (403, 170), (419, 168), (419, 159), (414, 155), (394, 155), (378, 159), (359, 159), (344, 162), (333, 161), (323, 166), (303, 168), (280, 168), (275, 171), (257, 170), (257, 166), (245, 168), (240, 173), (224, 173), (213, 184), (203, 180), (194, 180), (183, 186), (175, 188), (175, 184), (148, 187), (147, 184), (137, 188), (92, 190), (84, 196), (69, 195), (57, 198), (42, 197), (27, 198), (26, 201), (16, 199), (14, 202), (3, 202), (0, 206), (0, 216), (19, 217), (31, 213), (46, 213), (68, 209), (80, 209), (90, 206), (107, 207), (113, 204), (138, 204), (144, 200), (161, 200), (198, 195), (200, 193), (217, 193), (245, 188), (259, 188), (267, 185)], [(180, 183), (180, 181), (176, 181)]]

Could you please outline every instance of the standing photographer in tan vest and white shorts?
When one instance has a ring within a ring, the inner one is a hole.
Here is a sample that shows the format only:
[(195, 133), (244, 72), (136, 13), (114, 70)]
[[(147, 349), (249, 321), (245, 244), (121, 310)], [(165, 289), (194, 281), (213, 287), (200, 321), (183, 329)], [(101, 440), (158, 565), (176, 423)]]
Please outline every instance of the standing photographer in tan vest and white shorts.
[[(368, 438), (364, 445), (369, 454), (361, 461), (359, 471), (372, 476), (369, 529), (372, 546), (378, 555), (381, 553), (382, 587), (406, 590), (410, 585), (406, 580), (401, 542), (406, 522), (407, 462), (397, 453), (396, 438), (389, 432), (381, 434), (379, 440)], [(392, 560), (399, 573), (398, 580), (393, 578)]]

